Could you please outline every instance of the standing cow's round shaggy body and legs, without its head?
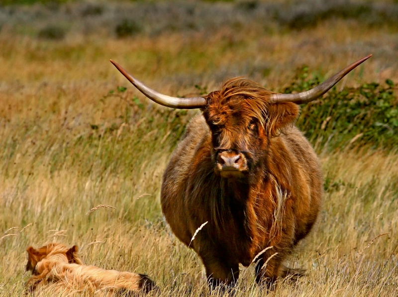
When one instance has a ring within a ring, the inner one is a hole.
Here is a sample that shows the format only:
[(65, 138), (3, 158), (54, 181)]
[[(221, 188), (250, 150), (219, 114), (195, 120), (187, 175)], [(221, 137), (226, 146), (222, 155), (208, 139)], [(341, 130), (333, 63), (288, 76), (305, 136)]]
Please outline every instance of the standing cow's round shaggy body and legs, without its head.
[(250, 265), (270, 246), (273, 248), (263, 254), (257, 267), (278, 253), (263, 272), (275, 280), (283, 274), (284, 256), (307, 235), (319, 212), (322, 175), (318, 158), (301, 132), (289, 127), (271, 139), (257, 180), (248, 184), (216, 175), (211, 147), (210, 130), (203, 116), (197, 116), (164, 173), (163, 213), (186, 245), (196, 229), (208, 222), (190, 247), (215, 281), (233, 282), (239, 263)]

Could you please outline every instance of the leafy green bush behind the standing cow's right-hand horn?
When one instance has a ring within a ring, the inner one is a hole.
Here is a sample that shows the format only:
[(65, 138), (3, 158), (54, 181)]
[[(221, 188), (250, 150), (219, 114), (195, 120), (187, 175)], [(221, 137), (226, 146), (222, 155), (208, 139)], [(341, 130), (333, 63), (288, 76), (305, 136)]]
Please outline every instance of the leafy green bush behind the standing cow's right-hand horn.
[[(306, 91), (319, 83), (318, 76), (309, 78), (308, 67), (304, 66), (284, 93)], [(385, 86), (367, 83), (341, 92), (334, 87), (324, 98), (301, 106), (297, 125), (318, 148), (398, 148), (394, 89), (390, 79)]]

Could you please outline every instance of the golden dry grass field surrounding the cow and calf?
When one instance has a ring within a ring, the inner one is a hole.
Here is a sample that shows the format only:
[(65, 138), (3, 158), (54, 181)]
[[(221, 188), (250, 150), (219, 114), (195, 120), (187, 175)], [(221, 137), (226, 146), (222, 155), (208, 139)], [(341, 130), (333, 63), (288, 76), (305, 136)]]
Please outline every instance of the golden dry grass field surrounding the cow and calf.
[[(396, 32), (339, 19), (301, 31), (220, 27), (125, 39), (46, 41), (1, 31), (0, 296), (23, 295), (25, 249), (49, 242), (78, 245), (86, 264), (148, 274), (160, 288), (152, 296), (218, 295), (160, 207), (163, 170), (197, 111), (150, 103), (109, 58), (182, 96), (198, 92), (195, 84), (216, 89), (231, 71), (278, 91), (302, 64), (327, 77), (373, 53), (341, 88), (398, 81)], [(261, 62), (267, 68), (251, 70)], [(330, 185), (315, 229), (289, 263), (308, 275), (267, 292), (254, 284), (253, 267), (241, 267), (235, 296), (398, 294), (397, 153), (317, 152)], [(100, 204), (115, 209), (87, 214)]]

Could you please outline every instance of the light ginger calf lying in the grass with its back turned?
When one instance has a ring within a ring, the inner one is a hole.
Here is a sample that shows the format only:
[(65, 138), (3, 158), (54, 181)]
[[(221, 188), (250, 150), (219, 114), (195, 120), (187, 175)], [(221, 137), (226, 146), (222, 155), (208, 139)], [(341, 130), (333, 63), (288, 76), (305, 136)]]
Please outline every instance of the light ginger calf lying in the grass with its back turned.
[[(110, 296), (149, 292), (155, 284), (146, 276), (131, 272), (104, 270), (87, 266), (78, 257), (78, 248), (50, 243), (37, 250), (27, 248), (26, 270), (32, 272), (27, 281), (29, 292), (113, 293)], [(109, 295), (107, 295), (109, 296)]]

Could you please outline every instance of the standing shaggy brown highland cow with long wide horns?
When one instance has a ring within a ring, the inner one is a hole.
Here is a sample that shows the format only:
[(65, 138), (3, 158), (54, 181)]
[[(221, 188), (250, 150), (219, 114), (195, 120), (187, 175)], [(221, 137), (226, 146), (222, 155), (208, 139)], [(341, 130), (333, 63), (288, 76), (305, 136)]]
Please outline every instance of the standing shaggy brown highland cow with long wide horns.
[(199, 254), (211, 285), (232, 286), (239, 263), (250, 265), (264, 250), (256, 258), (258, 283), (270, 285), (289, 272), (283, 260), (311, 230), (322, 200), (319, 160), (294, 125), (298, 104), (319, 98), (369, 57), (299, 94), (233, 78), (195, 98), (162, 95), (111, 61), (151, 100), (202, 111), (171, 157), (161, 203), (175, 235)]

